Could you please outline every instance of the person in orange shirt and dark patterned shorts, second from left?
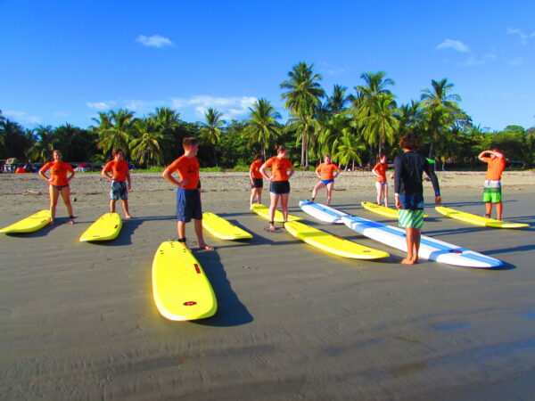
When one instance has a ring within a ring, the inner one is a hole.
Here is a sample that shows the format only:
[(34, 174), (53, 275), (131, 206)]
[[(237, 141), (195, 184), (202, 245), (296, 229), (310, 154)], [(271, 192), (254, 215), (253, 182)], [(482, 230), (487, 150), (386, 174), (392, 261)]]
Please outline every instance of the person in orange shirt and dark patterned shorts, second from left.
[(128, 191), (132, 189), (132, 181), (128, 163), (123, 159), (123, 151), (113, 150), (113, 160), (106, 163), (101, 175), (111, 181), (110, 213), (115, 213), (115, 202), (120, 199), (125, 211), (125, 218), (132, 218), (128, 212)]

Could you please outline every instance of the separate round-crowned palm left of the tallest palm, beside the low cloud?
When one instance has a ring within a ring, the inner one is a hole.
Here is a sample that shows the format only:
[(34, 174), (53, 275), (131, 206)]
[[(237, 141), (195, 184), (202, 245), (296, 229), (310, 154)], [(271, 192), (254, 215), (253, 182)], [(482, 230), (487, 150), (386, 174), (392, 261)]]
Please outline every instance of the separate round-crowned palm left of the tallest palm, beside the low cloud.
[(280, 129), (276, 125), (276, 119), (281, 115), (271, 106), (271, 102), (266, 99), (259, 99), (252, 104), (250, 119), (247, 121), (245, 130), (249, 137), (249, 144), (259, 143), (264, 160), (266, 160), (266, 148), (273, 143)]

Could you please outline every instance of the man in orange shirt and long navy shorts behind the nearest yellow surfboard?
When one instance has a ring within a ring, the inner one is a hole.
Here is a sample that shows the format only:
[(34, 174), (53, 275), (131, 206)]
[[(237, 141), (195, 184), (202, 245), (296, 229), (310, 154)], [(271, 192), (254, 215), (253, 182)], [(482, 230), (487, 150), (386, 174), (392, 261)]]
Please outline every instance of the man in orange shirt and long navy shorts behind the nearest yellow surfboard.
[[(204, 241), (202, 235), (202, 204), (201, 204), (201, 182), (199, 181), (199, 141), (194, 137), (184, 138), (182, 142), (184, 155), (173, 161), (166, 168), (161, 176), (169, 183), (177, 186), (177, 233), (178, 242), (185, 246), (185, 224), (193, 218), (193, 228), (197, 235), (197, 243), (201, 250), (213, 250)], [(177, 171), (180, 181), (173, 176)]]

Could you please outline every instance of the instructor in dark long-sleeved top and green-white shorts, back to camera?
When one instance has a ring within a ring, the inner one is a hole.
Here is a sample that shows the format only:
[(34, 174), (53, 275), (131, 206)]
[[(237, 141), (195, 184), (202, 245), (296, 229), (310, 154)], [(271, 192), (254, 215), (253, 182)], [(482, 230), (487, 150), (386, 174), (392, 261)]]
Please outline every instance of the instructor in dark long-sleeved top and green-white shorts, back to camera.
[(399, 226), (407, 234), (407, 258), (401, 263), (414, 265), (418, 262), (420, 238), (424, 226), (424, 186), (422, 175), (431, 178), (435, 192), (435, 205), (440, 205), (440, 186), (429, 162), (416, 149), (419, 146), (415, 135), (405, 135), (399, 141), (403, 153), (394, 160), (394, 189), (396, 207), (399, 209)]

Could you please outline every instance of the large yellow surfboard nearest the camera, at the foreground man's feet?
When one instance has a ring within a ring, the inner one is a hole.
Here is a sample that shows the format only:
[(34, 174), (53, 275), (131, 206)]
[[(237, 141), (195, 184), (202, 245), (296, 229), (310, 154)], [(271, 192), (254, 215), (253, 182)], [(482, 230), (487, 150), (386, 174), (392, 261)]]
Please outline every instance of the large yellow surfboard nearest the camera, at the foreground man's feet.
[(210, 282), (182, 242), (161, 242), (152, 262), (152, 295), (161, 315), (185, 321), (210, 317), (218, 301)]

